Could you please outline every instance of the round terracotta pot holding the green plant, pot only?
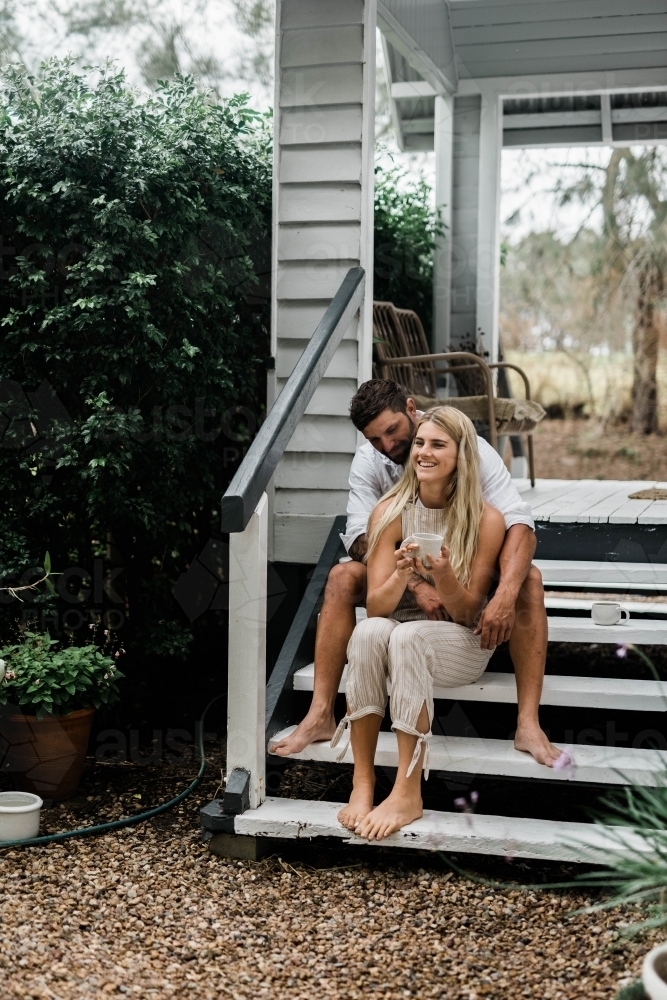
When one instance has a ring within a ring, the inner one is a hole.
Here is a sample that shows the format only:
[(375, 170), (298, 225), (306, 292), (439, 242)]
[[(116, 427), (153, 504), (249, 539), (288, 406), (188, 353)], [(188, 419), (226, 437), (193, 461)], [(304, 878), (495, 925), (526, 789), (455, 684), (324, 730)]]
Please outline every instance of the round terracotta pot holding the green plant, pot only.
[(2, 768), (12, 772), (17, 787), (56, 802), (76, 792), (86, 759), (94, 708), (69, 715), (0, 716)]

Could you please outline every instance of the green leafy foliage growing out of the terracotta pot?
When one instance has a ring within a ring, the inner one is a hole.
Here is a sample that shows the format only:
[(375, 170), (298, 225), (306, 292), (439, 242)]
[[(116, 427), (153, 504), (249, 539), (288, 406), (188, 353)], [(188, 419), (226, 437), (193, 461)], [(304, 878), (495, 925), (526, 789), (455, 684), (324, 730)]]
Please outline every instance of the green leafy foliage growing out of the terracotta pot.
[(7, 671), (0, 681), (0, 705), (27, 707), (41, 719), (118, 700), (123, 674), (96, 645), (62, 646), (48, 634), (26, 629), (20, 642), (0, 649), (0, 657)]

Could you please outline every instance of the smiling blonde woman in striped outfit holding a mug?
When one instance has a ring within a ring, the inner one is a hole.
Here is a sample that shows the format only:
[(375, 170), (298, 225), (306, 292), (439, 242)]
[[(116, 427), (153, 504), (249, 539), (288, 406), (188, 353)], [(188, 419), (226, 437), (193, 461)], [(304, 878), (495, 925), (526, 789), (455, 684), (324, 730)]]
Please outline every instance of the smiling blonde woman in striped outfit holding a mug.
[[(445, 536), (440, 556), (428, 566), (415, 556), (418, 546), (409, 542), (413, 532)], [(484, 672), (491, 651), (480, 649), (473, 628), (504, 537), (504, 518), (482, 500), (471, 421), (450, 406), (428, 410), (417, 426), (402, 479), (369, 520), (368, 618), (350, 639), (347, 715), (331, 741), (336, 746), (350, 728), (353, 791), (338, 819), (367, 840), (381, 840), (422, 815), (433, 682), (471, 684)], [(437, 589), (445, 621), (428, 620), (406, 589), (414, 572)], [(392, 792), (374, 809), (375, 748), (387, 680), (398, 770)]]

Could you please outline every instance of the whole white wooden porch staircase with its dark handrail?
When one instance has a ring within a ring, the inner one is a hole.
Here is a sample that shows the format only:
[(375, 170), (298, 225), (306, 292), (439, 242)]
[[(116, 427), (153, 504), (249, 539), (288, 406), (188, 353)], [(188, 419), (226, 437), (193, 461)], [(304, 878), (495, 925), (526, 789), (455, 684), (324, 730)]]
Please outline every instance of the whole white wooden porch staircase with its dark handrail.
[[(266, 795), (267, 747), (300, 721), (306, 708), (304, 699), (312, 690), (318, 612), (327, 576), (345, 555), (339, 537), (345, 528), (344, 517), (334, 519), (268, 682), (265, 650), (265, 489), (359, 308), (363, 277), (359, 268), (348, 272), (223, 498), (221, 526), (230, 533), (227, 779), (223, 797), (206, 805), (201, 819), (204, 838), (226, 837), (224, 850), (232, 856), (237, 849), (233, 842), (244, 838), (259, 842), (266, 837), (335, 837), (365, 843), (338, 824), (336, 814), (342, 803)], [(656, 484), (538, 481), (532, 489), (527, 482), (520, 484), (536, 515), (537, 565), (549, 588), (556, 594), (562, 592), (562, 596), (549, 597), (550, 643), (584, 643), (599, 648), (608, 643), (662, 645), (667, 641), (667, 613), (662, 613), (667, 606), (659, 601), (654, 600), (651, 606), (634, 600), (631, 622), (606, 628), (592, 623), (590, 602), (581, 597), (572, 599), (567, 593), (618, 592), (639, 598), (667, 592), (667, 503), (628, 499), (634, 488), (652, 485)], [(652, 731), (667, 749), (667, 692), (658, 681), (638, 677), (634, 660), (623, 660), (622, 665), (624, 676), (606, 677), (594, 676), (595, 669), (590, 670), (591, 676), (570, 675), (568, 671), (565, 675), (562, 671), (561, 675), (550, 674), (548, 665), (542, 699), (545, 711), (561, 711), (568, 718), (600, 709), (621, 713), (621, 718), (639, 713), (653, 727), (659, 719), (659, 729)], [(344, 685), (345, 678), (341, 693)], [(457, 707), (461, 712), (460, 706), (465, 704), (471, 712), (485, 709), (488, 721), (492, 709), (498, 714), (508, 711), (504, 706), (516, 701), (516, 687), (513, 674), (498, 671), (492, 661), (491, 669), (475, 684), (439, 689), (435, 695), (436, 720), (443, 710), (451, 715)], [(480, 718), (484, 718), (483, 712)], [(619, 833), (619, 828), (566, 821), (558, 815), (549, 819), (531, 816), (531, 795), (526, 789), (539, 789), (542, 795), (545, 788), (553, 789), (554, 801), (558, 788), (572, 796), (580, 789), (592, 805), (597, 792), (610, 786), (661, 784), (667, 776), (667, 752), (643, 745), (627, 748), (590, 745), (583, 740), (567, 744), (555, 741), (572, 758), (572, 766), (555, 770), (537, 764), (515, 750), (511, 740), (498, 739), (493, 732), (456, 735), (438, 732), (435, 724), (434, 732), (431, 775), (435, 782), (429, 783), (430, 788), (434, 783), (437, 787), (438, 781), (449, 782), (451, 787), (462, 779), (464, 787), (469, 787), (472, 779), (505, 782), (503, 807), (510, 800), (516, 807), (520, 799), (525, 815), (457, 814), (429, 808), (420, 820), (384, 841), (387, 846), (598, 862), (609, 852), (641, 849), (641, 839), (631, 831)], [(341, 766), (327, 743), (312, 744), (295, 757)], [(350, 759), (348, 751), (343, 763)], [(271, 757), (272, 771), (276, 772), (282, 761), (284, 758)], [(376, 764), (391, 769), (396, 762), (395, 737), (382, 732)], [(510, 789), (522, 791), (516, 795)]]

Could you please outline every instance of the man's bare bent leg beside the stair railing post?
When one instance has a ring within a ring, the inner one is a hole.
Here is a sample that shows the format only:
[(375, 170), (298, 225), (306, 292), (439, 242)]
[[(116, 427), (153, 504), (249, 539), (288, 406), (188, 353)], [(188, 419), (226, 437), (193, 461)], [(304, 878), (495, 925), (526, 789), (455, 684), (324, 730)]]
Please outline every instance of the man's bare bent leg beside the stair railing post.
[(347, 658), (347, 644), (356, 624), (355, 608), (366, 596), (363, 563), (338, 563), (329, 573), (315, 639), (313, 700), (291, 736), (276, 743), (271, 753), (288, 757), (309, 743), (330, 740), (336, 729), (334, 705)]

